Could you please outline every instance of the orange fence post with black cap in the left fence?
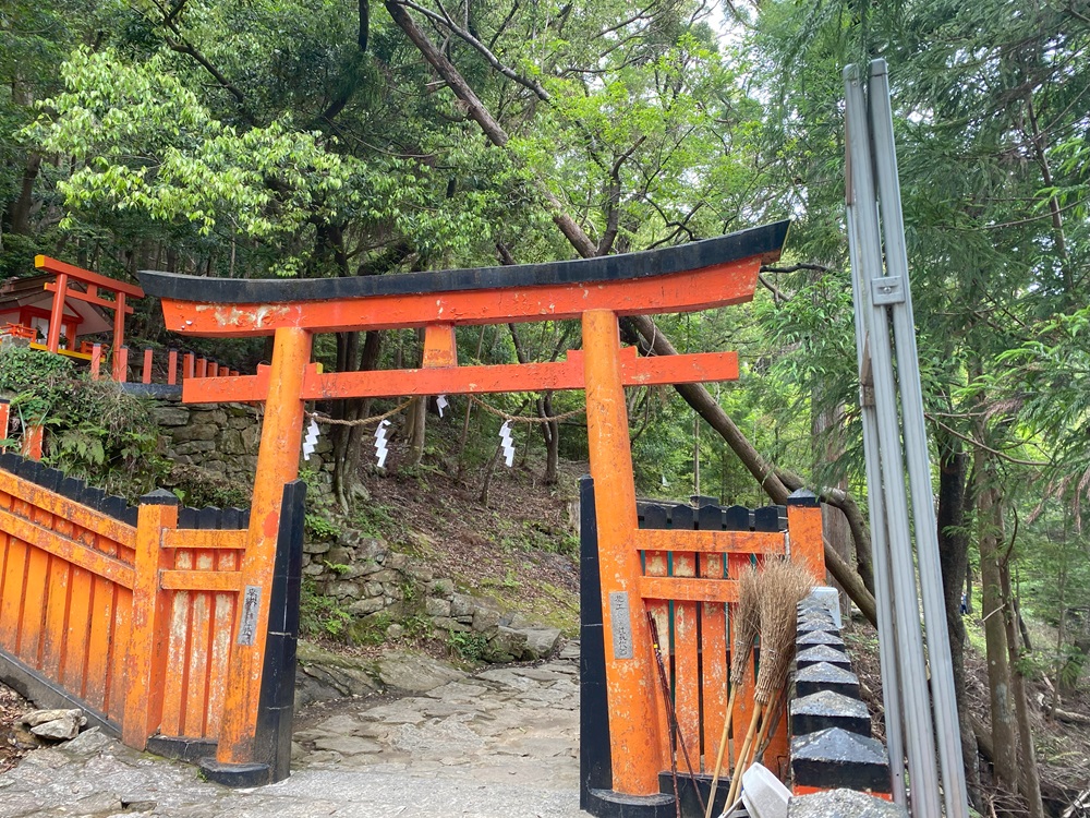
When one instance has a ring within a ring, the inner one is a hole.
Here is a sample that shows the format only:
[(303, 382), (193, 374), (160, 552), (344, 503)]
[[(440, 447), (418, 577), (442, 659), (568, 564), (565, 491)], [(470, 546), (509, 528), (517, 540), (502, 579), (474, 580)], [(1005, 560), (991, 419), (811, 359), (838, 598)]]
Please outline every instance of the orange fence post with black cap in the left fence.
[(178, 525), (178, 497), (162, 489), (141, 497), (136, 522), (132, 636), (125, 654), (124, 718), (121, 741), (144, 749), (162, 719), (167, 672), (170, 594), (159, 588), (159, 572), (170, 567), (161, 548), (162, 529)]

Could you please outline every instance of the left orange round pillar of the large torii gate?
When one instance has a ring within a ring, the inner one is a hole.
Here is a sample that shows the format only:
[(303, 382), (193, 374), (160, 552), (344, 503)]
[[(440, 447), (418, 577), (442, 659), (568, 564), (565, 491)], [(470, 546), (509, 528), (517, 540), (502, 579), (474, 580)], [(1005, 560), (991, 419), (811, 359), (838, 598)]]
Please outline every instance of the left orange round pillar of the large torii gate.
[[(241, 587), (261, 588), (261, 599), (253, 645), (239, 645), (235, 639), (228, 662), (227, 696), (216, 751), (216, 758), (225, 763), (251, 761), (254, 758), (280, 503), (284, 484), (299, 476), (299, 453), (303, 436), (303, 373), (310, 359), (308, 332), (296, 328), (277, 329), (272, 365), (269, 369), (270, 387), (265, 404), (265, 422), (257, 455), (257, 476), (254, 479), (250, 536), (241, 565)], [(634, 528), (634, 514), (632, 521)], [(241, 628), (241, 623), (238, 622), (240, 616), (241, 610), (235, 613), (235, 635)]]

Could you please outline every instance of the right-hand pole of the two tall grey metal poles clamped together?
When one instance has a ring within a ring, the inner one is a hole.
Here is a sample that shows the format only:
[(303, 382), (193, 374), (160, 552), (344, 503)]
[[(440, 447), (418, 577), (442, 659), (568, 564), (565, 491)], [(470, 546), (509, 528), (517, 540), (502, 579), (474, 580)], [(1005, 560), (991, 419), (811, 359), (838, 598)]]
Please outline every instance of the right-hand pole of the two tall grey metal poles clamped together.
[(961, 730), (954, 694), (954, 670), (949, 634), (946, 626), (946, 600), (938, 563), (937, 521), (928, 458), (928, 435), (923, 419), (923, 392), (920, 386), (919, 352), (912, 317), (912, 294), (908, 280), (908, 253), (897, 178), (897, 154), (893, 137), (893, 111), (885, 60), (870, 67), (871, 132), (879, 191), (882, 197), (882, 228), (885, 238), (886, 267), (891, 277), (899, 277), (904, 300), (891, 306), (894, 341), (897, 347), (897, 376), (900, 386), (901, 422), (908, 478), (916, 525), (916, 555), (920, 569), (923, 619), (931, 660), (931, 691), (934, 699), (938, 756), (943, 773), (943, 799), (947, 818), (967, 818), (965, 770), (961, 762)]

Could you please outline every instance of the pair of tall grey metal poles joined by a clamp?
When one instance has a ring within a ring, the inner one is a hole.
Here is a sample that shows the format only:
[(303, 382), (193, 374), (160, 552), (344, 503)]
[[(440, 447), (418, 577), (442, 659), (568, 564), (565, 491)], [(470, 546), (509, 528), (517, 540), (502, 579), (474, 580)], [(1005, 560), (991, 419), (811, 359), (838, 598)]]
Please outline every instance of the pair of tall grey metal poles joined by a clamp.
[(967, 818), (884, 60), (871, 63), (869, 80), (864, 92), (861, 71), (853, 65), (845, 70), (847, 212), (894, 794), (904, 802), (907, 760), (913, 815), (938, 816), (942, 804), (947, 818)]

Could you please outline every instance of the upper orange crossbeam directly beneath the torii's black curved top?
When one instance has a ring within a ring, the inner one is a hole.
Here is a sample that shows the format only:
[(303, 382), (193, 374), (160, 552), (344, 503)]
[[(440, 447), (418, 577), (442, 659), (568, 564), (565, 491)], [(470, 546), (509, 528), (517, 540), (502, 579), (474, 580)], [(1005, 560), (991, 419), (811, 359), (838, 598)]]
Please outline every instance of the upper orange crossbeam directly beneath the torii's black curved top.
[(616, 315), (692, 312), (749, 301), (761, 256), (653, 278), (520, 289), (457, 290), (275, 304), (203, 304), (162, 299), (167, 329), (226, 338), (271, 335), (298, 327), (312, 333), (399, 329), (578, 318), (589, 311)]

